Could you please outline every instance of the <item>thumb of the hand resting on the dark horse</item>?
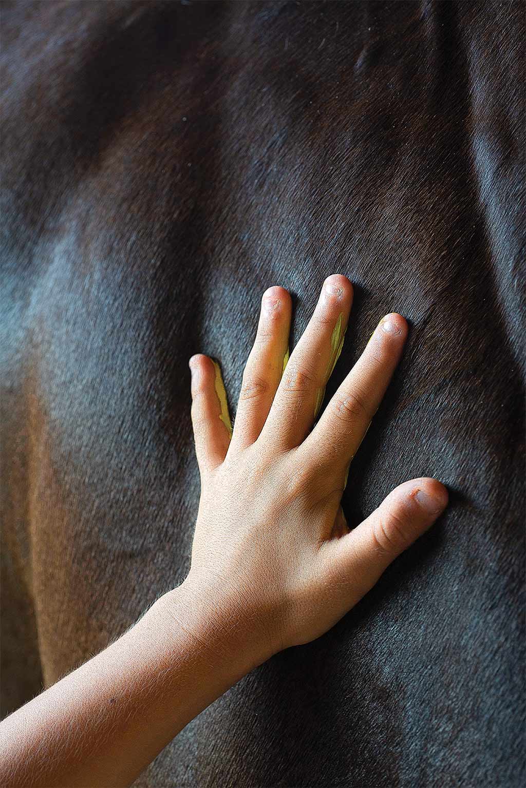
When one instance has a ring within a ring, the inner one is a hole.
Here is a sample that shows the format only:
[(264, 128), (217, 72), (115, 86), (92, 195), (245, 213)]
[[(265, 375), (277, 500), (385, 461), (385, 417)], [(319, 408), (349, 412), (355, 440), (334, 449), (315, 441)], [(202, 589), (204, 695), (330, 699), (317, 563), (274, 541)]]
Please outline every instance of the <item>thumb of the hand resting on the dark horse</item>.
[(394, 559), (435, 522), (448, 503), (444, 485), (432, 478), (412, 479), (396, 487), (371, 515), (334, 541), (334, 569), (353, 589), (356, 604)]

